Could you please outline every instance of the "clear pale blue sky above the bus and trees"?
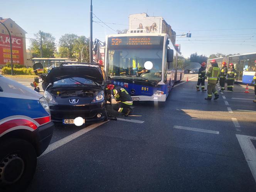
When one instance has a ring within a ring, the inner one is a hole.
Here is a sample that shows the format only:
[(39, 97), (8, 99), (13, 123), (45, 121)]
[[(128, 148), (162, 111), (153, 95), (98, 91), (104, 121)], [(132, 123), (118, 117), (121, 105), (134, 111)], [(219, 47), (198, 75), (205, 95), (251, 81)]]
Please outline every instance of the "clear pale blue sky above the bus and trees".
[[(89, 8), (90, 0), (8, 0), (1, 2), (0, 16), (13, 19), (26, 37), (42, 30), (58, 44), (65, 33), (89, 37)], [(130, 14), (162, 16), (177, 34), (192, 33), (192, 38), (177, 38), (185, 57), (256, 52), (256, 0), (93, 0), (93, 12), (103, 22), (122, 24), (108, 24), (114, 30), (128, 28)], [(116, 33), (101, 25), (93, 23), (93, 37), (104, 40)]]

